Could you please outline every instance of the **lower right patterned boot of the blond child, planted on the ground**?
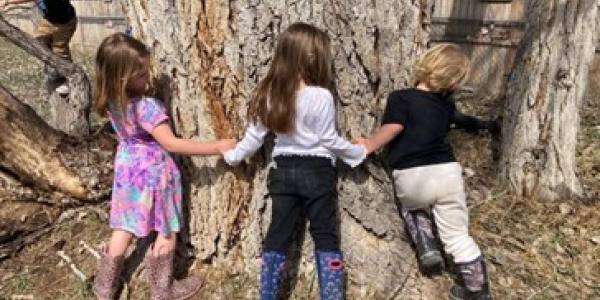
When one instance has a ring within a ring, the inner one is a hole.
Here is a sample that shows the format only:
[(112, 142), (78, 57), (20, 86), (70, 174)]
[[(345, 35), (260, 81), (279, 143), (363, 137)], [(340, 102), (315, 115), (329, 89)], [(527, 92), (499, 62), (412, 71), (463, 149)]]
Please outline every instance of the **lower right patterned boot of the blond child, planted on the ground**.
[(483, 256), (456, 266), (459, 274), (457, 283), (450, 289), (451, 300), (492, 300)]

